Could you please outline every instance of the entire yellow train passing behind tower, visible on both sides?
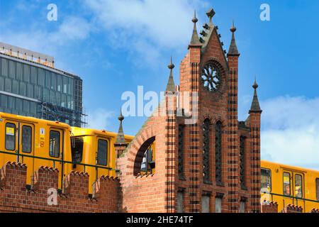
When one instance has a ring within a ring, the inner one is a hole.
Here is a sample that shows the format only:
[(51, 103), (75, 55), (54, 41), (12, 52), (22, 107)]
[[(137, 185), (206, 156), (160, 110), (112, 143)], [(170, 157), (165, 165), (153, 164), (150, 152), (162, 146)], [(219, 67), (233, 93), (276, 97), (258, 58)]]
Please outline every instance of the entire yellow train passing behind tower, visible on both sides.
[[(116, 176), (117, 133), (75, 128), (65, 123), (0, 113), (0, 167), (6, 162), (27, 165), (26, 184), (41, 166), (59, 170), (59, 189), (72, 170), (89, 174), (89, 193), (102, 175)], [(133, 136), (125, 135), (130, 143)], [(155, 173), (155, 143), (145, 152), (141, 172)], [(319, 172), (300, 167), (262, 161), (261, 200), (276, 201), (279, 211), (287, 204), (303, 211), (319, 209)]]

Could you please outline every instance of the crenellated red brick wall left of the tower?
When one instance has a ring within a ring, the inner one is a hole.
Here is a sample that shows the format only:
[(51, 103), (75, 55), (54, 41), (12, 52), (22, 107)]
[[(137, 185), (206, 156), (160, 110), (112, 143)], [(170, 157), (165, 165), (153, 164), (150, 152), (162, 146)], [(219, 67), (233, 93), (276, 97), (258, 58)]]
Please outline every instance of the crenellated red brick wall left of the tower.
[(26, 188), (27, 166), (7, 162), (1, 168), (0, 212), (118, 212), (121, 201), (118, 178), (103, 176), (94, 183), (89, 196), (89, 175), (70, 172), (64, 180), (62, 194), (57, 193), (59, 171), (40, 167)]

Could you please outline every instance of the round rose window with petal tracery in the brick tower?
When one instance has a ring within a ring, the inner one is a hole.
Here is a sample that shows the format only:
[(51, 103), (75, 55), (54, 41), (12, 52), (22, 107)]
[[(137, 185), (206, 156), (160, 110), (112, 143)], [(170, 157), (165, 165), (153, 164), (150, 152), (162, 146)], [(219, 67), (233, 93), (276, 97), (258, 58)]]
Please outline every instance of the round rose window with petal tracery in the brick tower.
[(220, 87), (221, 74), (213, 62), (207, 62), (201, 72), (201, 82), (208, 92), (214, 92)]

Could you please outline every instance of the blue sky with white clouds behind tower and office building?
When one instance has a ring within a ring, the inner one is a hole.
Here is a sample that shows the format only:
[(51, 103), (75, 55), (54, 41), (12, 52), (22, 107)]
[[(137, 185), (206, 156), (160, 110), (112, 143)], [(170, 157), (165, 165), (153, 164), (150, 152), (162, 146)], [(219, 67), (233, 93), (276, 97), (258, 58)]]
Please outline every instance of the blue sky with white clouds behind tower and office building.
[[(57, 21), (47, 21), (47, 5)], [(271, 21), (259, 6), (269, 4)], [(84, 80), (89, 126), (117, 131), (125, 91), (162, 91), (173, 55), (179, 65), (198, 26), (213, 7), (228, 50), (235, 20), (241, 52), (239, 115), (245, 120), (257, 77), (262, 116), (262, 157), (319, 169), (319, 1), (317, 0), (0, 0), (0, 40), (55, 57), (56, 67)], [(174, 70), (179, 83), (179, 67)], [(135, 134), (145, 118), (125, 118)]]

